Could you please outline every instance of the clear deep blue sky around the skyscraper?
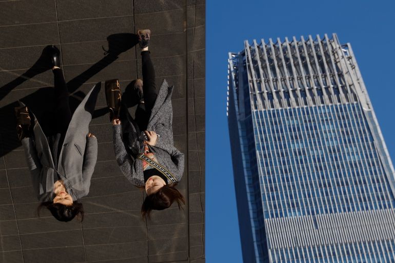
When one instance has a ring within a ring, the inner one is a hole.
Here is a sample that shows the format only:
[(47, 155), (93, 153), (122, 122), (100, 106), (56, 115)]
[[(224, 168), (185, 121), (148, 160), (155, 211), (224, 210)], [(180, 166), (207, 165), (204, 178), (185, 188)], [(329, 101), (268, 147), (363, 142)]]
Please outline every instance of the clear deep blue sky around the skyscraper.
[(245, 39), (337, 33), (351, 43), (394, 161), (394, 17), (395, 1), (206, 2), (207, 263), (242, 262), (226, 117), (228, 52), (242, 50)]

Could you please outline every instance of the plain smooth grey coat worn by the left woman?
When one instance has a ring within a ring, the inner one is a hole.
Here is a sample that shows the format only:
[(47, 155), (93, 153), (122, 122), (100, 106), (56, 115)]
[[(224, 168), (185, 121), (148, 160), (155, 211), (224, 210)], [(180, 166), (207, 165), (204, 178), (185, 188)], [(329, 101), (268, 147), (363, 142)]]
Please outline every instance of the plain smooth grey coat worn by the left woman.
[[(97, 160), (97, 139), (96, 137), (87, 137), (92, 115), (85, 109), (85, 105), (95, 88), (96, 86), (89, 91), (73, 113), (57, 167), (54, 166), (47, 137), (37, 118), (34, 114), (32, 116), (34, 135), (32, 138), (24, 138), (22, 145), (25, 148), (33, 188), (40, 201), (50, 201), (57, 176), (63, 180), (64, 186), (73, 200), (89, 193), (90, 179)], [(60, 134), (55, 140), (56, 143), (59, 141), (59, 137)]]

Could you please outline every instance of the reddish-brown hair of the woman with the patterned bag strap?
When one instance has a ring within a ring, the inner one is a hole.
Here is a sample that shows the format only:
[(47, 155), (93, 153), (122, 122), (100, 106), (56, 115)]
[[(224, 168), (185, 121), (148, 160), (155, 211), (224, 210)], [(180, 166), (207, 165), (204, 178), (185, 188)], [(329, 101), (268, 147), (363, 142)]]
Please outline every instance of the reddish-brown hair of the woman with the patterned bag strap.
[(174, 201), (179, 205), (185, 205), (185, 198), (179, 190), (175, 189), (175, 184), (165, 185), (156, 193), (147, 195), (141, 207), (141, 215), (143, 218), (149, 217), (151, 210), (163, 210), (169, 208)]

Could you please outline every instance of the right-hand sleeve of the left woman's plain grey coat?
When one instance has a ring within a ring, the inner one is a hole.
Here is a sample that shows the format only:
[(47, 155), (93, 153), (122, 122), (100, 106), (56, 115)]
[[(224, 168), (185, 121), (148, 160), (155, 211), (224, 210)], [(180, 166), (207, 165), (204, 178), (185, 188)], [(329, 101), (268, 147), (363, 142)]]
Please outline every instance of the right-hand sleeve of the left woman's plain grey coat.
[[(94, 167), (97, 161), (97, 138), (87, 137), (86, 147), (84, 153), (84, 165), (82, 167), (82, 178), (84, 183), (90, 186), (90, 179), (92, 177)], [(87, 189), (89, 192), (89, 188)]]

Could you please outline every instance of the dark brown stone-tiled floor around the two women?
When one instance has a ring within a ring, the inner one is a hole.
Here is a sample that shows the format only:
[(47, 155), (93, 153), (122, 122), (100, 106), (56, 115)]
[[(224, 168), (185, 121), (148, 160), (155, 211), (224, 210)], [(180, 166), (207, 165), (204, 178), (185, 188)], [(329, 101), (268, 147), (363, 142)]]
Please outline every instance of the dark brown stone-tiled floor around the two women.
[[(51, 104), (43, 48), (61, 49), (75, 107), (97, 82), (118, 78), (125, 89), (141, 77), (132, 33), (143, 28), (152, 30), (157, 83), (175, 86), (174, 144), (186, 157), (178, 188), (187, 205), (141, 219), (143, 192), (116, 164), (102, 88), (90, 125), (99, 152), (85, 219), (60, 222), (46, 209), (38, 217), (13, 108), (18, 99), (37, 112)], [(204, 0), (0, 0), (0, 122), (0, 262), (205, 262)]]

